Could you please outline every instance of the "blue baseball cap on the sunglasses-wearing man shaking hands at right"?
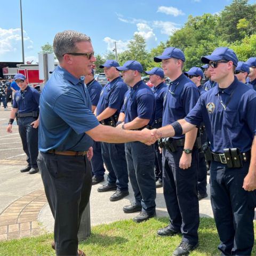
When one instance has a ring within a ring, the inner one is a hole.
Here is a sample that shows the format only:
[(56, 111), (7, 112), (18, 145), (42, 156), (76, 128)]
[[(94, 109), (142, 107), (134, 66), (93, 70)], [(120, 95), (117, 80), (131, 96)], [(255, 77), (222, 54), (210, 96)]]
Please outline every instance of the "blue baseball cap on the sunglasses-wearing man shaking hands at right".
[(210, 61), (218, 60), (231, 60), (235, 66), (237, 66), (238, 62), (235, 52), (228, 47), (218, 47), (212, 52), (211, 55), (207, 55), (201, 58), (203, 63), (209, 63)]

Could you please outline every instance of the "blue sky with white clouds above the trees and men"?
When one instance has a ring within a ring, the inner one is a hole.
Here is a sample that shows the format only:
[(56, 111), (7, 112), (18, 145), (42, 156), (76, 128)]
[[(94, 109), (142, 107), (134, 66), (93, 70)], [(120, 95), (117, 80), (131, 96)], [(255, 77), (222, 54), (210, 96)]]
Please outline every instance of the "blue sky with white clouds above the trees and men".
[[(0, 62), (22, 61), (20, 0), (0, 2)], [(25, 61), (36, 62), (41, 46), (52, 44), (54, 35), (66, 29), (89, 35), (95, 53), (113, 50), (114, 41), (117, 52), (124, 51), (134, 33), (144, 36), (151, 49), (165, 42), (174, 29), (181, 28), (189, 14), (217, 13), (230, 3), (231, 0), (22, 0)]]

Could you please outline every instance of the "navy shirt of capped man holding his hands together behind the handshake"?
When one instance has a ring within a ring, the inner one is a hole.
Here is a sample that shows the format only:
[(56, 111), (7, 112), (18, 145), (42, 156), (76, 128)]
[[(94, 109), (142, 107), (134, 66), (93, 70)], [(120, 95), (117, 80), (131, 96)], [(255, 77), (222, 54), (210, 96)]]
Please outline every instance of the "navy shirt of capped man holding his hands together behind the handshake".
[(121, 111), (125, 114), (124, 123), (129, 123), (139, 117), (149, 119), (148, 125), (153, 125), (156, 111), (154, 93), (142, 80), (139, 81), (125, 93)]

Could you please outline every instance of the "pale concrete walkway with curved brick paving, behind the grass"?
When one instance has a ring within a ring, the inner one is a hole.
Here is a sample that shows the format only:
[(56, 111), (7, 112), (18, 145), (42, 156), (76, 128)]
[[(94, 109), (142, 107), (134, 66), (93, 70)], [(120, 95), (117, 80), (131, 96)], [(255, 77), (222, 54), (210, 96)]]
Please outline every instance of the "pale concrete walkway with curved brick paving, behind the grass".
[[(11, 164), (10, 164), (11, 163)], [(46, 231), (53, 231), (54, 220), (44, 194), (41, 175), (21, 173), (25, 161), (0, 160), (0, 240), (35, 236)], [(117, 202), (110, 202), (109, 197), (114, 191), (98, 193), (97, 188), (105, 181), (92, 186), (90, 207), (91, 225), (110, 223), (117, 220), (131, 219), (138, 213), (125, 214), (124, 205), (133, 201), (133, 191), (129, 186), (130, 195)], [(207, 193), (210, 195), (209, 185)], [(213, 217), (210, 197), (199, 202), (201, 216)], [(157, 217), (168, 216), (163, 196), (163, 188), (157, 188)]]

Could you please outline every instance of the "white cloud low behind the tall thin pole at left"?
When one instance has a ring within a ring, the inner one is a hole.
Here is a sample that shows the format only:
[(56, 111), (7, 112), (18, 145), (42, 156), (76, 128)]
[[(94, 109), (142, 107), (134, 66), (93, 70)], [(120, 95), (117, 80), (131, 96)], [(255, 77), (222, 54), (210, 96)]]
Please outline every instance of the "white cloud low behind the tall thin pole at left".
[[(33, 41), (23, 30), (24, 47), (33, 49)], [(0, 28), (0, 55), (18, 52), (21, 50), (21, 30), (20, 28), (3, 29)]]

